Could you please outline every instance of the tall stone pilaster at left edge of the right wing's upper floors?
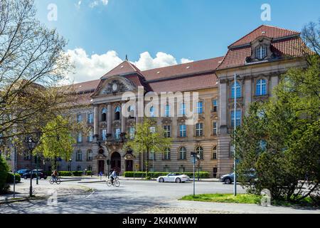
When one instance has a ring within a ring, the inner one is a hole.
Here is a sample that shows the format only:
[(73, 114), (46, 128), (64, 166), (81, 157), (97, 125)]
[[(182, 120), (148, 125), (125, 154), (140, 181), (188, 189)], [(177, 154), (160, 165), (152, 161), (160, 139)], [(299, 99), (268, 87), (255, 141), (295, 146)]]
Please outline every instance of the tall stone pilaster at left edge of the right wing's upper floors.
[(227, 134), (227, 83), (220, 82), (219, 89), (220, 134)]

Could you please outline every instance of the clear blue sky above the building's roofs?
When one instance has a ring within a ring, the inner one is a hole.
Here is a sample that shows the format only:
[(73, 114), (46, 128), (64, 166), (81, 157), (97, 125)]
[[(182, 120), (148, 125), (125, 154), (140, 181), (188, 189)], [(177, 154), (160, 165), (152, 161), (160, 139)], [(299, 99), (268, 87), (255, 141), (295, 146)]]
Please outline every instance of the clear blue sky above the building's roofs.
[[(58, 7), (57, 21), (47, 19), (51, 3)], [(260, 19), (265, 3), (271, 21)], [(169, 54), (176, 63), (223, 56), (230, 43), (261, 24), (300, 31), (320, 18), (319, 0), (36, 0), (36, 6), (38, 19), (57, 28), (68, 49), (81, 48), (87, 58), (115, 51), (113, 56), (127, 54), (133, 62), (144, 52), (151, 58)]]

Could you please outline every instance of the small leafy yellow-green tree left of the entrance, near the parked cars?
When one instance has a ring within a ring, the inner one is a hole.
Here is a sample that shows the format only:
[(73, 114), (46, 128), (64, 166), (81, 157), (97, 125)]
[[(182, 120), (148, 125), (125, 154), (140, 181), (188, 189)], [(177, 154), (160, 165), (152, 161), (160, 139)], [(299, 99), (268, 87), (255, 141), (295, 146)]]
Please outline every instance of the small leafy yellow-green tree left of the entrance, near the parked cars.
[(43, 157), (54, 160), (54, 169), (57, 157), (66, 161), (71, 158), (75, 139), (71, 135), (70, 122), (67, 119), (59, 115), (42, 128), (41, 132), (38, 146), (33, 150), (34, 155), (42, 154)]

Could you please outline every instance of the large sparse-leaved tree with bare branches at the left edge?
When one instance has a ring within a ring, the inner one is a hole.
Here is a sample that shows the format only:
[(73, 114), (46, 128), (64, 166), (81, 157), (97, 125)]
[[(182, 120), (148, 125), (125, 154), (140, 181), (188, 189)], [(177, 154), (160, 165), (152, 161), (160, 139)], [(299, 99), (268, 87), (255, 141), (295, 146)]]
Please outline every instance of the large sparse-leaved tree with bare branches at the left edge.
[[(23, 147), (27, 135), (63, 113), (76, 96), (60, 82), (72, 68), (67, 42), (36, 19), (33, 0), (0, 4), (0, 140)], [(17, 137), (16, 137), (17, 136)], [(6, 148), (1, 148), (6, 151)]]

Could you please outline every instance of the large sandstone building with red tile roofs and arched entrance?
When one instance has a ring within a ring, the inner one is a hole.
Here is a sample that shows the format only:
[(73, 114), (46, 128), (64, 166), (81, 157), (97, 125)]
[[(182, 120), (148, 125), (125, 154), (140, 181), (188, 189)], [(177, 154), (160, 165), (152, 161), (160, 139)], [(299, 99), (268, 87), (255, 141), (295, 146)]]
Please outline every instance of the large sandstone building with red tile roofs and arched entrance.
[[(234, 114), (236, 125), (240, 125), (252, 101), (272, 95), (281, 74), (292, 66), (304, 66), (299, 46), (304, 43), (298, 32), (260, 26), (228, 46), (228, 52), (222, 57), (148, 71), (140, 71), (126, 60), (100, 80), (75, 84), (79, 105), (73, 107), (72, 112), (91, 130), (87, 135), (78, 133), (72, 160), (59, 162), (58, 169), (86, 169), (95, 174), (106, 173), (110, 167), (120, 172), (143, 170), (144, 161), (149, 159), (149, 167), (154, 171), (191, 172), (190, 152), (196, 151), (201, 155), (199, 169), (210, 172), (211, 177), (230, 172), (233, 170), (230, 133)], [(126, 138), (134, 133), (134, 125), (143, 119), (138, 115), (139, 100), (124, 105), (126, 101), (122, 98), (128, 92), (135, 98), (142, 94), (146, 113), (172, 138), (166, 152), (151, 153), (148, 158), (123, 149)], [(166, 101), (164, 108), (148, 106), (151, 92), (159, 96), (161, 92), (175, 95), (198, 92), (197, 102), (191, 102), (193, 113), (197, 114), (194, 123), (186, 123), (185, 100)], [(238, 103), (234, 113), (235, 94)], [(122, 115), (124, 108), (129, 112), (128, 117)], [(158, 111), (161, 116), (153, 118)], [(33, 166), (33, 161), (28, 161), (31, 157), (19, 159), (18, 168)], [(50, 168), (48, 164), (45, 166)]]

